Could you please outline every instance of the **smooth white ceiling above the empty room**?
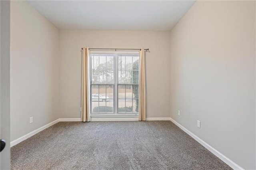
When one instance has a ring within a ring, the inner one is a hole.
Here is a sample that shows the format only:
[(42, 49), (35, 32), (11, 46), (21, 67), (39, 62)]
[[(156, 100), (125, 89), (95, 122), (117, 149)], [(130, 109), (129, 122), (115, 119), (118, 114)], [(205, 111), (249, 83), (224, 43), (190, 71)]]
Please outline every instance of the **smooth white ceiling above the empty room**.
[(171, 30), (194, 2), (28, 1), (57, 28), (86, 30)]

